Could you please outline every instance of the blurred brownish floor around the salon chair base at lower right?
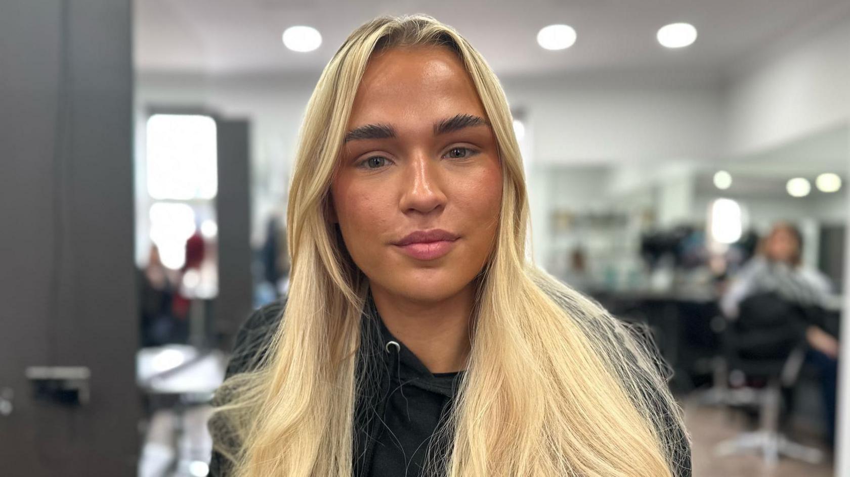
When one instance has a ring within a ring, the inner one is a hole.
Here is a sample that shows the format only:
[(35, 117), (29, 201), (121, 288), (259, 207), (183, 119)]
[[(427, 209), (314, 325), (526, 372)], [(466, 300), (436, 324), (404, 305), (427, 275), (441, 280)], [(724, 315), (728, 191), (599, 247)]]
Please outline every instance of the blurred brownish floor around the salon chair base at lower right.
[[(741, 419), (714, 407), (698, 407), (693, 402), (684, 404), (685, 421), (693, 437), (695, 477), (832, 477), (832, 456), (826, 453), (825, 462), (819, 465), (781, 459), (770, 468), (755, 455), (717, 457), (714, 446), (738, 434), (743, 428)], [(819, 446), (818, 439), (794, 435), (796, 441), (809, 446)]]

